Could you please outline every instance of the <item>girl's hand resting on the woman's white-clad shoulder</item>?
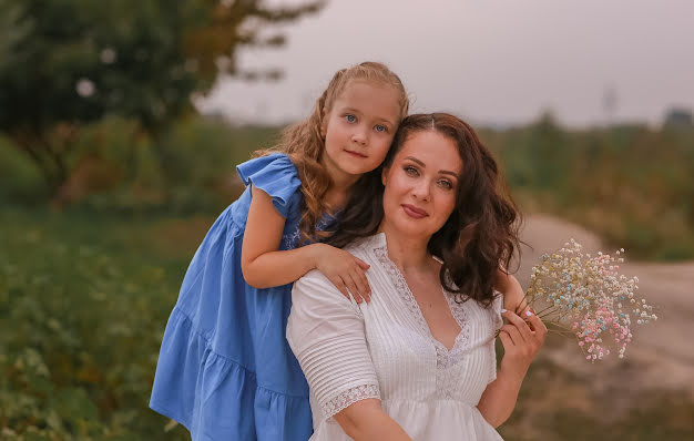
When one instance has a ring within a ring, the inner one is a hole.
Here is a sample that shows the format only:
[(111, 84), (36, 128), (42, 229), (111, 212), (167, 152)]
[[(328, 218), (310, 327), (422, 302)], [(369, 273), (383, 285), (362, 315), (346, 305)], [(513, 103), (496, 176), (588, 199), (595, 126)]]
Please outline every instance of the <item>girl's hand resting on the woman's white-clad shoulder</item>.
[(349, 293), (354, 299), (370, 301), (371, 288), (366, 279), (366, 270), (369, 265), (353, 256), (350, 253), (326, 244), (316, 244), (316, 269), (323, 273), (347, 298)]

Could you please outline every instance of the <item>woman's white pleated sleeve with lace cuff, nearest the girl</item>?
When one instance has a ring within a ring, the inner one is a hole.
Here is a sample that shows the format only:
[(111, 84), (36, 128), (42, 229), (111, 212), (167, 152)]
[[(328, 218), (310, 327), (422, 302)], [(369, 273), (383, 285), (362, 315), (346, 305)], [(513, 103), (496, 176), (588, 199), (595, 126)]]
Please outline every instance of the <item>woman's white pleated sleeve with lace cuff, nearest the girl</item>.
[(319, 271), (294, 284), (287, 340), (325, 419), (353, 403), (380, 399), (364, 317)]

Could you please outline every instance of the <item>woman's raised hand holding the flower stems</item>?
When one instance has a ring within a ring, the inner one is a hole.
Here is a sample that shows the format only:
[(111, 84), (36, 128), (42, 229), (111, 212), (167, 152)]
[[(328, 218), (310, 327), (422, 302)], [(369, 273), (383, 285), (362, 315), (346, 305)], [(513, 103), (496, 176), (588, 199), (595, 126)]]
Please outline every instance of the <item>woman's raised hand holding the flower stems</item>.
[(499, 331), (504, 350), (500, 370), (509, 371), (521, 381), (547, 336), (547, 327), (538, 316), (530, 310), (522, 314), (528, 321), (512, 311), (503, 310), (501, 316), (508, 322)]

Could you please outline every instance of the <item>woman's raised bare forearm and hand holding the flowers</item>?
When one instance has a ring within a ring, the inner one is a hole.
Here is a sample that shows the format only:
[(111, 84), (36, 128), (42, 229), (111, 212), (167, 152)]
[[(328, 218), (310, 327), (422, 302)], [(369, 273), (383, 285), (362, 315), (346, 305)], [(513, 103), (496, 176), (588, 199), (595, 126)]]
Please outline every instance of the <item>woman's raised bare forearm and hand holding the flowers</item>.
[[(504, 306), (516, 308), (523, 298), (519, 295), (504, 297)], [(503, 310), (502, 316), (508, 320), (499, 331), (503, 359), (497, 379), (487, 386), (477, 404), (482, 417), (494, 428), (513, 412), (528, 368), (547, 336), (547, 327), (538, 316), (529, 310), (523, 315), (528, 321), (511, 310)]]

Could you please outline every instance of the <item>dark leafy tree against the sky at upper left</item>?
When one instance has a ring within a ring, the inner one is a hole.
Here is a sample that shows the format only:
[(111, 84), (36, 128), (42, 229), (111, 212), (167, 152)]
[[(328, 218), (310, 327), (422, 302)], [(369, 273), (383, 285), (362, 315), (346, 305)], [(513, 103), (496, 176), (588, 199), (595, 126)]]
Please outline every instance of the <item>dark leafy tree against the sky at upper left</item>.
[(120, 115), (157, 137), (221, 73), (277, 79), (278, 70), (241, 71), (236, 51), (282, 45), (282, 33), (264, 30), (324, 6), (306, 1), (0, 0), (0, 131), (54, 194), (85, 124)]

